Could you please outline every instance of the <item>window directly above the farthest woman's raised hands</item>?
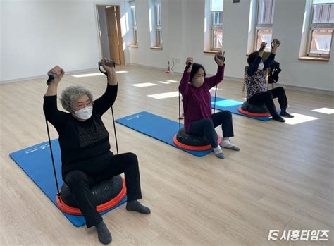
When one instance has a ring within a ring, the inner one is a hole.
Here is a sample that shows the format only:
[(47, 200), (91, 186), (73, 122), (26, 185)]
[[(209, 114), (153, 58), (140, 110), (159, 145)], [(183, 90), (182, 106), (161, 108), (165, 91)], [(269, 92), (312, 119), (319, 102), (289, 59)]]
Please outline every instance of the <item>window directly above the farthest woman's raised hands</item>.
[(259, 49), (261, 42), (266, 42), (266, 51), (271, 49), (273, 35), (273, 8), (275, 0), (258, 0), (257, 20), (255, 32), (255, 49)]

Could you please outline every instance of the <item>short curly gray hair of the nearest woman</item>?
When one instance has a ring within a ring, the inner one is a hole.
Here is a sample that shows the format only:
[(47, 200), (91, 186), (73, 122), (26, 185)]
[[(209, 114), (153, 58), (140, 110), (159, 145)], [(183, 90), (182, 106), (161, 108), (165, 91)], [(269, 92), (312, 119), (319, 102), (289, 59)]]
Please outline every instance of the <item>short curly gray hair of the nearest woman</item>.
[(63, 105), (63, 108), (70, 112), (73, 113), (73, 102), (77, 100), (78, 98), (82, 97), (83, 95), (87, 95), (89, 100), (93, 102), (93, 95), (92, 92), (89, 90), (85, 89), (84, 87), (81, 86), (70, 86), (67, 87), (63, 92), (61, 93), (61, 105)]

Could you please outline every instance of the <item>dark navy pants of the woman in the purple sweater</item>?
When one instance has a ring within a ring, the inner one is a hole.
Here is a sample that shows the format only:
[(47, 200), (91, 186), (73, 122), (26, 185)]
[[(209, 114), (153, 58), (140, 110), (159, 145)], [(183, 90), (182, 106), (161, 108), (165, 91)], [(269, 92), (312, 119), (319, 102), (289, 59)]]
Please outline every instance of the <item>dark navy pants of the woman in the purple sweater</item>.
[(230, 111), (221, 111), (212, 114), (211, 118), (193, 121), (190, 124), (189, 133), (192, 135), (205, 136), (209, 140), (211, 147), (216, 148), (218, 142), (214, 128), (218, 125), (221, 125), (223, 137), (233, 137), (232, 113), (230, 113)]

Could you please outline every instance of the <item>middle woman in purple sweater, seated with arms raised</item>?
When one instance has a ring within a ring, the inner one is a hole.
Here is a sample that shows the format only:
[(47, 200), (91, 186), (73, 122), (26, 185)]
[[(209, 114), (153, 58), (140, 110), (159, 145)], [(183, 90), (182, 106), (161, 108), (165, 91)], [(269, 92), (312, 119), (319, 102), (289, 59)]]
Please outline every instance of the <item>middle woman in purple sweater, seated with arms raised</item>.
[[(221, 55), (221, 52), (219, 53)], [(230, 111), (221, 111), (211, 113), (211, 94), (209, 90), (223, 80), (225, 63), (219, 56), (215, 56), (214, 60), (218, 65), (215, 76), (206, 78), (205, 69), (198, 63), (192, 63), (192, 57), (188, 57), (183, 77), (180, 82), (180, 93), (183, 97), (183, 111), (185, 114), (185, 131), (191, 135), (205, 136), (214, 154), (224, 159), (225, 155), (221, 147), (233, 150), (240, 150), (230, 142), (233, 137), (233, 122)], [(223, 130), (223, 141), (221, 145), (216, 139), (215, 128), (221, 125)]]

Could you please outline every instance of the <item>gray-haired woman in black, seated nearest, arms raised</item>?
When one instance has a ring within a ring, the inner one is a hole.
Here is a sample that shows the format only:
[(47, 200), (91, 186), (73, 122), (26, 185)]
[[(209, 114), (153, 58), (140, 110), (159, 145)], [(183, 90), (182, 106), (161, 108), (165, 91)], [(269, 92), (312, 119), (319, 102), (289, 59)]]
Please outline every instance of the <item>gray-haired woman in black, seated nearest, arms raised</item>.
[(115, 68), (105, 65), (111, 60), (102, 59), (101, 62), (108, 74), (108, 85), (99, 99), (93, 101), (91, 92), (83, 87), (68, 87), (61, 95), (61, 104), (69, 113), (58, 111), (57, 87), (65, 72), (56, 66), (49, 70), (57, 78), (51, 80), (47, 88), (43, 109), (47, 121), (54, 125), (59, 135), (63, 180), (70, 187), (87, 228), (95, 226), (100, 242), (108, 244), (111, 233), (94, 206), (92, 185), (124, 173), (128, 196), (126, 209), (142, 214), (149, 214), (150, 210), (137, 201), (142, 198), (137, 156), (133, 153), (113, 155), (110, 151), (109, 133), (101, 116), (115, 102), (118, 82)]

